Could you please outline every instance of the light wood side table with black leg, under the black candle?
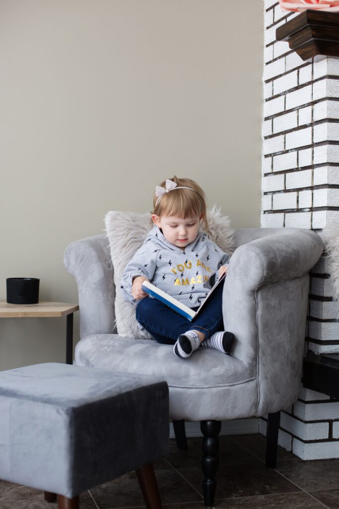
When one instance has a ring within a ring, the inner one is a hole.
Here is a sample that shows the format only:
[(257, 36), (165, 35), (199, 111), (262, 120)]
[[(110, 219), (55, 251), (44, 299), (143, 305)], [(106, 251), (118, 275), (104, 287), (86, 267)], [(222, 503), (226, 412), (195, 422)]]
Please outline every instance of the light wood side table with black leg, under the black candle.
[(73, 313), (77, 304), (41, 301), (38, 304), (8, 304), (0, 300), (0, 318), (49, 318), (66, 315), (66, 364), (73, 364)]

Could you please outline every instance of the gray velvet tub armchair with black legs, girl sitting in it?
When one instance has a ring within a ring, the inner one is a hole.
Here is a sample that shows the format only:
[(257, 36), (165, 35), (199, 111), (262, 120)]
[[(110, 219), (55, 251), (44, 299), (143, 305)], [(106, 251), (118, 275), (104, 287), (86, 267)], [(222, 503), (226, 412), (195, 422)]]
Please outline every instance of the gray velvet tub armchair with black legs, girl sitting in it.
[(113, 269), (104, 235), (70, 244), (64, 263), (77, 280), (80, 338), (75, 363), (167, 381), (178, 446), (184, 420), (200, 421), (205, 504), (213, 504), (221, 421), (268, 414), (266, 465), (275, 466), (279, 412), (298, 397), (309, 271), (321, 238), (303, 229), (239, 229), (223, 294), (235, 335), (231, 355), (198, 349), (188, 360), (156, 341), (120, 337), (114, 328)]

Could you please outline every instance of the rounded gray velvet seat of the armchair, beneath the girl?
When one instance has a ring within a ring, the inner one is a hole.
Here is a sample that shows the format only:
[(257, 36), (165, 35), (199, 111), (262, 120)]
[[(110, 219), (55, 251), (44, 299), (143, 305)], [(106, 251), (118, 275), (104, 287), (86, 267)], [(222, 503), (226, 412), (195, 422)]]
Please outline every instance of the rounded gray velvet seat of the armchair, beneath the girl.
[(255, 367), (211, 348), (199, 348), (189, 359), (180, 359), (172, 345), (94, 334), (77, 344), (75, 363), (166, 380), (170, 416), (175, 419), (233, 419), (255, 413)]

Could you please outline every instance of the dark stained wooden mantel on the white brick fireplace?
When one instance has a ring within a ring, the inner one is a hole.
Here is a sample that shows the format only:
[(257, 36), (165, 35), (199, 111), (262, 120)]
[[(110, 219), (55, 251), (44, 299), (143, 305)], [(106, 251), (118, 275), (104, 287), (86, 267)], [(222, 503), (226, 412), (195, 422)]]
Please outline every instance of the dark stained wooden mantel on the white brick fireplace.
[(339, 56), (339, 12), (307, 9), (275, 31), (302, 60), (316, 55)]

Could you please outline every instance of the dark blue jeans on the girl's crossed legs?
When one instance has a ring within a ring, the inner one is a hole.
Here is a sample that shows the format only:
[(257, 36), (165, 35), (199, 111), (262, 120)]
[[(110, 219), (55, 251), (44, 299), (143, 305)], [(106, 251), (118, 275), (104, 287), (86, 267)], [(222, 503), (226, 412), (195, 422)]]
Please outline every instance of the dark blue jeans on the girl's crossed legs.
[[(173, 345), (180, 334), (195, 329), (203, 332), (208, 339), (214, 332), (224, 330), (223, 322), (224, 282), (214, 290), (199, 315), (192, 322), (181, 317), (158, 299), (145, 297), (136, 308), (137, 321), (158, 341)], [(198, 307), (192, 307), (196, 311)]]

